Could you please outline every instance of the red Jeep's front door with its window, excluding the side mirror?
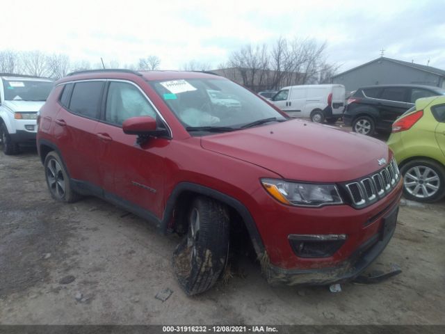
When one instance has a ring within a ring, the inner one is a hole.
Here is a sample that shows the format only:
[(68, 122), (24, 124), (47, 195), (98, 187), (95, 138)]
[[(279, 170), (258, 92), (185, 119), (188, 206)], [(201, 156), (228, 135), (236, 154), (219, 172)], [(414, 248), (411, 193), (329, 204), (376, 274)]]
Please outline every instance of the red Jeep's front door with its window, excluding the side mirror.
[(105, 197), (133, 209), (143, 208), (158, 218), (163, 208), (163, 153), (168, 138), (150, 138), (143, 145), (124, 134), (122, 122), (135, 116), (157, 118), (143, 90), (130, 81), (108, 81), (104, 115), (96, 128), (97, 158)]

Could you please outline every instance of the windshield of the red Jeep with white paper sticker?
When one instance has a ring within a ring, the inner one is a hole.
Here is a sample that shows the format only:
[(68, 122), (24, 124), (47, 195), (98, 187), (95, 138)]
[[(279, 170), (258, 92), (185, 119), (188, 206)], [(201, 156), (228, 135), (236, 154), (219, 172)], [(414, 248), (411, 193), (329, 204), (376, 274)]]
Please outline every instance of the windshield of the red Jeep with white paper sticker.
[(219, 127), (224, 131), (269, 118), (286, 120), (257, 95), (229, 80), (177, 79), (151, 84), (187, 129)]

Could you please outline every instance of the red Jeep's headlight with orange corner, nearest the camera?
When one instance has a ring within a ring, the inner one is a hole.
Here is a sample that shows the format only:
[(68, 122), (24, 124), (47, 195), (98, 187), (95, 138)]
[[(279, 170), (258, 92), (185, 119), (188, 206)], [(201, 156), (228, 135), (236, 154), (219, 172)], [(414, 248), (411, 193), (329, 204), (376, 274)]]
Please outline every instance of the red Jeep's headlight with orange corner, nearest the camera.
[(343, 202), (335, 184), (308, 184), (277, 179), (261, 179), (261, 183), (273, 198), (287, 205), (321, 207)]

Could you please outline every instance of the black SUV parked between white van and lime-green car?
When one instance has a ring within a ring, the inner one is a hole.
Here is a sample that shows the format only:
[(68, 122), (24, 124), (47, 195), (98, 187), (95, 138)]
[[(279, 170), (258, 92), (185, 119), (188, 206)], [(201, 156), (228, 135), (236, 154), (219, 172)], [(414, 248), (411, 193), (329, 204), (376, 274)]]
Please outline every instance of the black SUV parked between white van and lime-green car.
[(372, 136), (375, 132), (391, 132), (391, 125), (417, 99), (445, 95), (445, 90), (432, 86), (387, 85), (359, 88), (348, 98), (343, 114), (345, 125), (353, 131)]

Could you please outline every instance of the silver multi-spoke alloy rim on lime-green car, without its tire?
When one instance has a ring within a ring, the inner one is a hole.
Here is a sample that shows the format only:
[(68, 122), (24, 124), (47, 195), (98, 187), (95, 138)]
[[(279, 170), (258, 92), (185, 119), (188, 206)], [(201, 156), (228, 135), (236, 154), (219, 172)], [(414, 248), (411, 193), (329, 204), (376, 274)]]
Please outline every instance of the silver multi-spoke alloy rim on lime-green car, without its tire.
[(427, 166), (414, 166), (407, 170), (403, 183), (406, 191), (416, 198), (430, 198), (440, 188), (439, 175)]

